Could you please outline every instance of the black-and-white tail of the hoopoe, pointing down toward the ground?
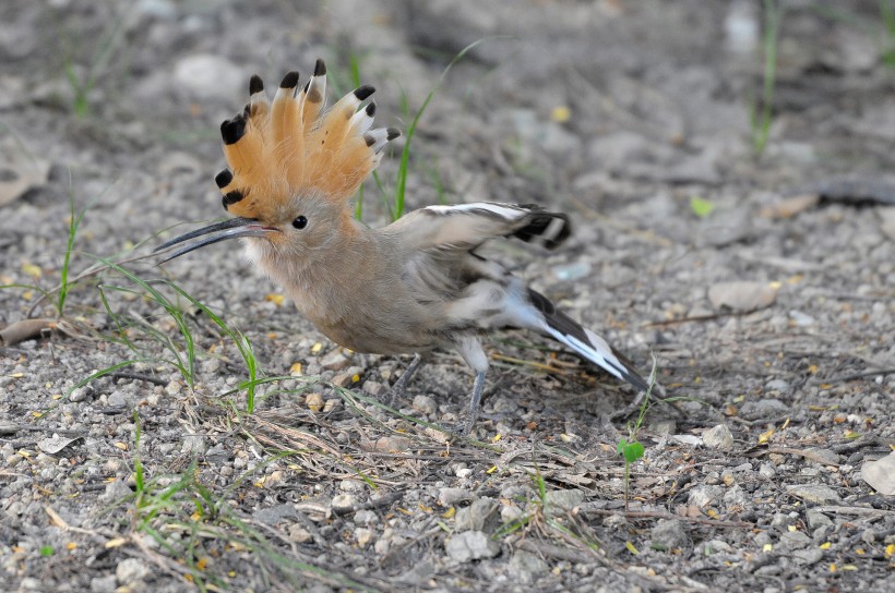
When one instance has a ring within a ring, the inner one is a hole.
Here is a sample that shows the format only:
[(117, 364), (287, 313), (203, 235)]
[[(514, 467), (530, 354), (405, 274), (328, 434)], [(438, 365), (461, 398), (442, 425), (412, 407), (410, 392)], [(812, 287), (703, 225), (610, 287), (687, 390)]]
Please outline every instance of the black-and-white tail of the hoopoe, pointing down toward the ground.
[(544, 331), (610, 375), (630, 383), (641, 391), (647, 390), (648, 384), (631, 361), (616, 352), (606, 340), (559, 311), (544, 294), (528, 289), (528, 298), (544, 316)]

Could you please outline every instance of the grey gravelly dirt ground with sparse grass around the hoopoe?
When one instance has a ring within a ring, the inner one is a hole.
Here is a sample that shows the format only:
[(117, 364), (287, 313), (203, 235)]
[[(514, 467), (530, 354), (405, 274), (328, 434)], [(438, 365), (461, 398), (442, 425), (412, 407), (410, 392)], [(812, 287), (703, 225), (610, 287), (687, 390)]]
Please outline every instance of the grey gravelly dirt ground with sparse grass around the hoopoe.
[[(0, 4), (0, 590), (895, 591), (895, 7), (785, 7), (767, 77), (760, 2)], [(404, 132), (434, 89), (408, 209), (569, 213), (489, 255), (667, 401), (508, 332), (454, 439), (455, 354), (390, 409), (410, 358), (342, 351), (235, 245), (133, 259), (224, 216), (249, 76), (319, 57)]]

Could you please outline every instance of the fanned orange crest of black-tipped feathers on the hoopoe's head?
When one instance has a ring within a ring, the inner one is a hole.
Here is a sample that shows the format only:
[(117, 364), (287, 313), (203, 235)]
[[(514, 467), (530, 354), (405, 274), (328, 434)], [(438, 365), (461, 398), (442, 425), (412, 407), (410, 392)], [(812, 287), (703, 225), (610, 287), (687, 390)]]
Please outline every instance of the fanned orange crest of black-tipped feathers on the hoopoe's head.
[(385, 144), (399, 135), (393, 128), (371, 129), (373, 101), (359, 109), (372, 86), (358, 87), (325, 109), (323, 60), (302, 89), (298, 83), (298, 72), (286, 74), (271, 101), (264, 83), (252, 76), (246, 109), (220, 124), (229, 169), (215, 182), (224, 208), (236, 216), (267, 219), (306, 193), (347, 203), (379, 165)]

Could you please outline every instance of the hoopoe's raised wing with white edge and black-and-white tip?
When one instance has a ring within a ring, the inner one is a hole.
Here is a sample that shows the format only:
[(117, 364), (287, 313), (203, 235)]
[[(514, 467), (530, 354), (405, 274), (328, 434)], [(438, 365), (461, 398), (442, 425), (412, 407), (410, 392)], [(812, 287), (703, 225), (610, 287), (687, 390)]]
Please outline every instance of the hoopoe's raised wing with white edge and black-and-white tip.
[(396, 233), (409, 250), (470, 251), (498, 237), (516, 237), (551, 250), (569, 238), (571, 228), (564, 214), (532, 204), (476, 202), (420, 208), (383, 231)]

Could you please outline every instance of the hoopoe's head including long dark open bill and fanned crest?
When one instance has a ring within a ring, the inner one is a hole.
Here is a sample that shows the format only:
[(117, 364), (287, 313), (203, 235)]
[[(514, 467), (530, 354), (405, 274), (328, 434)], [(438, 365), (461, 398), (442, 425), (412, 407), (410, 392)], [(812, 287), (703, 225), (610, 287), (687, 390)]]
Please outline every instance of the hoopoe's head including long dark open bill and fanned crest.
[(156, 247), (198, 239), (162, 263), (218, 241), (248, 238), (255, 256), (290, 256), (326, 249), (350, 225), (348, 201), (375, 169), (393, 128), (372, 129), (373, 87), (361, 86), (325, 109), (326, 66), (299, 88), (289, 72), (273, 101), (259, 76), (249, 82), (246, 109), (220, 124), (228, 169), (215, 177), (224, 194), (224, 222)]

